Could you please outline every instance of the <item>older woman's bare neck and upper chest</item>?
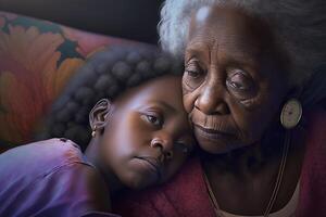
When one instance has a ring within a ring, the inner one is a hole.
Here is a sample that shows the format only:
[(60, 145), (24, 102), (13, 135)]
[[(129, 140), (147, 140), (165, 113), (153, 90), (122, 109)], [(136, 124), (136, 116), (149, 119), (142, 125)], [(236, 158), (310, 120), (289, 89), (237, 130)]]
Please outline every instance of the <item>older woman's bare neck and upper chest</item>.
[[(293, 130), (281, 186), (273, 212), (291, 197), (304, 156), (304, 130)], [(271, 200), (280, 169), (284, 139), (264, 140), (227, 155), (202, 157), (202, 165), (218, 206), (239, 215), (261, 215)], [(273, 145), (269, 149), (267, 145)], [(266, 148), (267, 146), (267, 148)]]

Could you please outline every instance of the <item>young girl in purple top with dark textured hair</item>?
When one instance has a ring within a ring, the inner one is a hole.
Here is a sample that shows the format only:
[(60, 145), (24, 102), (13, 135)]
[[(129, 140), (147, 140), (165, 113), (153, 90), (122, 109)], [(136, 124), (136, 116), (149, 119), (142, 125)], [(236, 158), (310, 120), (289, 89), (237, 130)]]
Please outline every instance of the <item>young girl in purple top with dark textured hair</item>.
[(175, 75), (181, 71), (171, 63), (152, 49), (95, 54), (42, 133), (83, 149), (91, 135), (85, 153), (62, 138), (1, 154), (0, 216), (114, 216), (110, 195), (170, 179), (195, 143)]

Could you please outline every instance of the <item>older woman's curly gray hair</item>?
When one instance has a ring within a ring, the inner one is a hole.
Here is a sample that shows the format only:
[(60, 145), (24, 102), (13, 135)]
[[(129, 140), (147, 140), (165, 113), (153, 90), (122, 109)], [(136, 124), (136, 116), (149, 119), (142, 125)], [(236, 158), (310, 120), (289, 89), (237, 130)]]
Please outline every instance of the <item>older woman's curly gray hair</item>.
[(191, 12), (208, 5), (235, 7), (267, 22), (291, 62), (292, 85), (326, 61), (325, 0), (166, 0), (158, 26), (162, 48), (183, 59)]

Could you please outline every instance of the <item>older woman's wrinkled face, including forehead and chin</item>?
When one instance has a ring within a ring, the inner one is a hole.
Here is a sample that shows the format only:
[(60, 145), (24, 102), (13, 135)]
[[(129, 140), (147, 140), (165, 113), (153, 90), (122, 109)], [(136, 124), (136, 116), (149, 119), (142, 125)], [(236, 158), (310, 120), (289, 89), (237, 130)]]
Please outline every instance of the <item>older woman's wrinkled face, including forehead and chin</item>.
[(287, 90), (267, 25), (239, 10), (192, 14), (185, 53), (184, 105), (200, 146), (225, 153), (258, 142)]

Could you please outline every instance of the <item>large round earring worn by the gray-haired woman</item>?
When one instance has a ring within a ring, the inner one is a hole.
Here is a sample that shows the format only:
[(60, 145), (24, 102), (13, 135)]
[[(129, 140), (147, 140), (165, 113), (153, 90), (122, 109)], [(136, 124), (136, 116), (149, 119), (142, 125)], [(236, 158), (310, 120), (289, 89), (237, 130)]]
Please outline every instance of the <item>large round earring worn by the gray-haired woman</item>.
[(288, 100), (281, 108), (280, 124), (286, 129), (294, 128), (302, 116), (302, 106), (297, 99)]

